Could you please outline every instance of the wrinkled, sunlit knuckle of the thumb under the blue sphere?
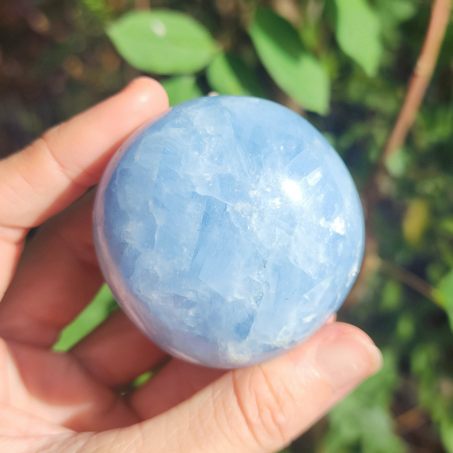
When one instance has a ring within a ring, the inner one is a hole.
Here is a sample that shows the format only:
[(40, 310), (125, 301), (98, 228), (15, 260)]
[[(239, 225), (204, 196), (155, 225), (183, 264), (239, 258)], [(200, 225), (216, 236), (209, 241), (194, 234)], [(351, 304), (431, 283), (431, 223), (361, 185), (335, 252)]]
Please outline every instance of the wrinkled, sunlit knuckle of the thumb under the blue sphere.
[(287, 443), (296, 405), (281, 377), (256, 365), (234, 371), (233, 380), (237, 404), (256, 442), (264, 449)]

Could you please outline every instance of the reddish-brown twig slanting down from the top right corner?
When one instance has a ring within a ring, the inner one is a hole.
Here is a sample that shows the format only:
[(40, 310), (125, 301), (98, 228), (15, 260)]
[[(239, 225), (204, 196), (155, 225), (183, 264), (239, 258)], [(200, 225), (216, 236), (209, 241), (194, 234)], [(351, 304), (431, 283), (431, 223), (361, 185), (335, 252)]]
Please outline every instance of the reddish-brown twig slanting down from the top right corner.
[(404, 145), (436, 66), (440, 46), (450, 19), (452, 0), (434, 0), (428, 31), (398, 120), (387, 142), (383, 162)]

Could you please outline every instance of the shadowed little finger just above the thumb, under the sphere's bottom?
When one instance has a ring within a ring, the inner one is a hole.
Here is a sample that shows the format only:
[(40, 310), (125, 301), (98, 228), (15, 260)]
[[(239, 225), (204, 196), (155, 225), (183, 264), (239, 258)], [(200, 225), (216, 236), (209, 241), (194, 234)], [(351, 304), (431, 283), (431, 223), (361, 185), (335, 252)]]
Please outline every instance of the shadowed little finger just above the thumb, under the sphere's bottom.
[(172, 359), (129, 396), (129, 404), (140, 419), (150, 419), (187, 400), (225, 372)]

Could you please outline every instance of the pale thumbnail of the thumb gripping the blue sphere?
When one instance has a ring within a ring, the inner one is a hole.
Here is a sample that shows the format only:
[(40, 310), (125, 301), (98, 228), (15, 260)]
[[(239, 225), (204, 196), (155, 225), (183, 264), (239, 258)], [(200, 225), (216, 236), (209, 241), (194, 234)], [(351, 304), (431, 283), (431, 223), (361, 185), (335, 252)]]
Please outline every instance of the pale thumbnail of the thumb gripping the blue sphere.
[(337, 337), (321, 344), (316, 360), (318, 369), (334, 390), (356, 385), (382, 366), (379, 349), (357, 337)]

